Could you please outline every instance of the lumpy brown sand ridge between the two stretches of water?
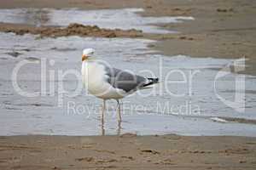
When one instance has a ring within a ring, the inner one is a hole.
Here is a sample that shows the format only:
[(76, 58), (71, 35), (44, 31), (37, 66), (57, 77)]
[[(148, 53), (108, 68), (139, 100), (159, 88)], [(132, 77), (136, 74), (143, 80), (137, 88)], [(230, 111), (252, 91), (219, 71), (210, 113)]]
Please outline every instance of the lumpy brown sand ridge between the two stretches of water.
[(24, 35), (27, 33), (39, 35), (43, 37), (143, 37), (142, 31), (135, 29), (103, 29), (98, 26), (84, 26), (81, 24), (70, 24), (65, 28), (55, 26), (26, 26), (20, 24), (0, 24), (0, 31), (13, 32), (16, 35)]

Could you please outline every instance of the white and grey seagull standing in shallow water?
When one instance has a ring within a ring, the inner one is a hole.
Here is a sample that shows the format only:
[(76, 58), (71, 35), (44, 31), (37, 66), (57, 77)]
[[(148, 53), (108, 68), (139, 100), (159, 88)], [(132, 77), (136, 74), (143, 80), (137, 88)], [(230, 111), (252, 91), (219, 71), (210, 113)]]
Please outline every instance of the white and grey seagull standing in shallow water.
[(85, 89), (97, 98), (103, 99), (102, 122), (106, 100), (117, 101), (119, 122), (121, 122), (119, 99), (132, 94), (140, 89), (152, 88), (159, 82), (159, 78), (147, 78), (133, 74), (130, 71), (122, 71), (108, 65), (106, 61), (93, 59), (94, 48), (85, 48), (82, 54), (82, 82)]

